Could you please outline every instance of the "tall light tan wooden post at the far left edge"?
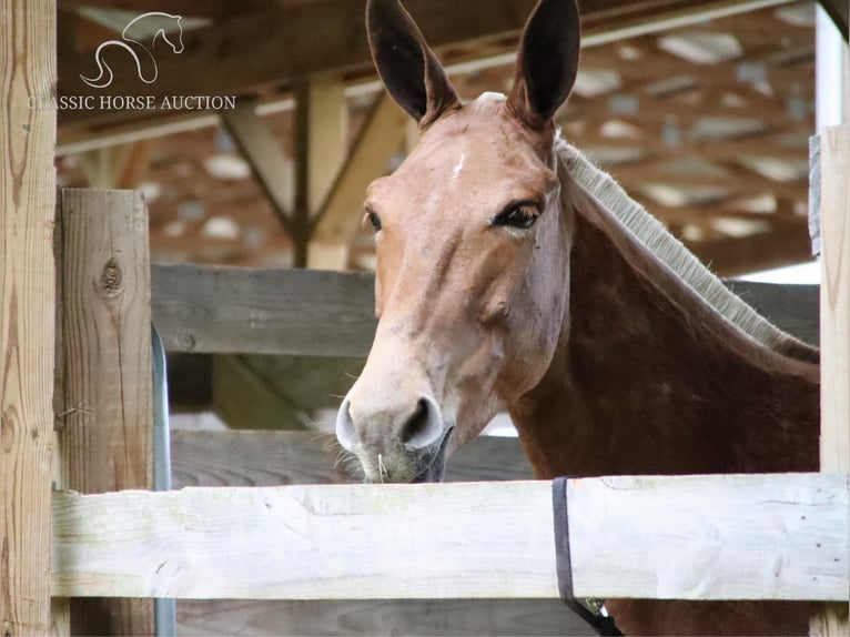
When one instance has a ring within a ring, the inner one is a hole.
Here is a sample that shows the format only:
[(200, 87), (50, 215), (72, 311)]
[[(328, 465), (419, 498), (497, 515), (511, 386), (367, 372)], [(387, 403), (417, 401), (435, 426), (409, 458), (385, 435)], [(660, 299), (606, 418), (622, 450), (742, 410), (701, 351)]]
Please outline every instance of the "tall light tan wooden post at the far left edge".
[(0, 2), (0, 635), (50, 630), (54, 0)]

